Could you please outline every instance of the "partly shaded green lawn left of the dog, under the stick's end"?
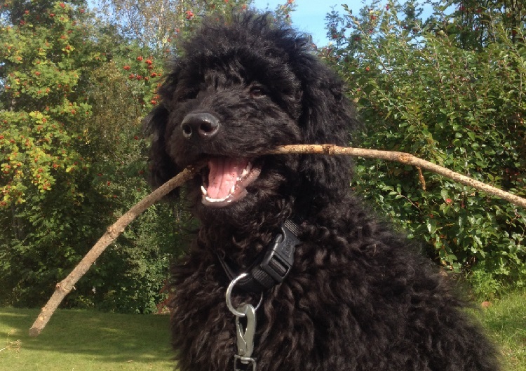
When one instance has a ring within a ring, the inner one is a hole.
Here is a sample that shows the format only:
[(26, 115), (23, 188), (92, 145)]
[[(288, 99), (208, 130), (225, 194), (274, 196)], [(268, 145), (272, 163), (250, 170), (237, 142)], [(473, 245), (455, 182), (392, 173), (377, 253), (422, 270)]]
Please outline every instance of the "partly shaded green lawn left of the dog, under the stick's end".
[(173, 370), (168, 316), (60, 310), (29, 337), (38, 314), (0, 308), (0, 349), (20, 341), (0, 352), (0, 371)]

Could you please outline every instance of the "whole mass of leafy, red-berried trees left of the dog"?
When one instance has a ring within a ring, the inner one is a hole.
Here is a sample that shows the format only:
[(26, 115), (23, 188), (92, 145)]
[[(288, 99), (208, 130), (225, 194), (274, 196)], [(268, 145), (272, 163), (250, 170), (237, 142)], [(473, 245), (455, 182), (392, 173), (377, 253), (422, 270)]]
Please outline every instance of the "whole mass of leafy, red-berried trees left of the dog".
[[(27, 2), (21, 14), (20, 4), (6, 3), (0, 30), (0, 302), (38, 306), (149, 192), (140, 121), (157, 104), (162, 63), (81, 1)], [(177, 252), (177, 229), (159, 220), (170, 213), (149, 210), (66, 305), (156, 310)]]

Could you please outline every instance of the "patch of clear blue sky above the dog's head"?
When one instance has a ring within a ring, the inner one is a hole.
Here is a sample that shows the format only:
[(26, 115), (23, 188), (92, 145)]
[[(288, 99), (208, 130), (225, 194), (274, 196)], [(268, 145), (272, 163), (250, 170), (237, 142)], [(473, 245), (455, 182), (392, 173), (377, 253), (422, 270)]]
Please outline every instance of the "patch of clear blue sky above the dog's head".
[[(285, 4), (286, 0), (254, 0), (253, 5), (260, 10), (274, 10), (276, 6)], [(296, 0), (296, 10), (290, 15), (292, 25), (301, 32), (312, 35), (314, 43), (324, 46), (328, 43), (327, 30), (325, 29), (325, 15), (336, 6), (335, 10), (342, 11), (341, 0)], [(343, 1), (345, 2), (345, 1)], [(351, 4), (354, 3), (354, 4)], [(353, 13), (357, 13), (363, 5), (358, 1), (347, 1)]]

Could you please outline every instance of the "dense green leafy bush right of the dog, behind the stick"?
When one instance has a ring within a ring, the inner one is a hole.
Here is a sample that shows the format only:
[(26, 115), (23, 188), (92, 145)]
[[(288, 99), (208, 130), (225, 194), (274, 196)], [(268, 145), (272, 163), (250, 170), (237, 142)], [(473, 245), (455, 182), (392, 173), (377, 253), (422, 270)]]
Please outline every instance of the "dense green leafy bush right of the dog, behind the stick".
[[(436, 14), (444, 7), (436, 4)], [(349, 81), (365, 122), (357, 141), (407, 151), (524, 196), (522, 31), (513, 41), (494, 20), (492, 39), (464, 48), (457, 34), (440, 29), (443, 22), (424, 25), (411, 9), (389, 2), (359, 17), (347, 13), (343, 47), (321, 52)], [(425, 240), (444, 267), (490, 272), (495, 285), (526, 274), (525, 210), (382, 161), (359, 161), (353, 187), (411, 238)]]

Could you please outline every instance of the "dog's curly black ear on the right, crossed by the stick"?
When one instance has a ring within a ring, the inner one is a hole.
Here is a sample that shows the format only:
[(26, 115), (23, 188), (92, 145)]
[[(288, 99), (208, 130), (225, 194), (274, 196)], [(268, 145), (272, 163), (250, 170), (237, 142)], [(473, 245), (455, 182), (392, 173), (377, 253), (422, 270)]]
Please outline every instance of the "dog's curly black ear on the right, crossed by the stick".
[[(309, 55), (300, 63), (302, 71), (302, 126), (306, 144), (336, 144), (347, 147), (351, 130), (358, 125), (356, 112), (344, 95), (339, 77), (320, 61)], [(300, 173), (304, 187), (321, 202), (338, 199), (348, 191), (352, 176), (349, 156), (303, 155)], [(333, 200), (334, 201), (334, 200)]]

